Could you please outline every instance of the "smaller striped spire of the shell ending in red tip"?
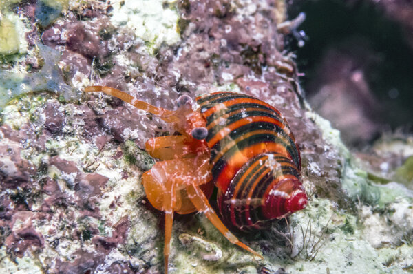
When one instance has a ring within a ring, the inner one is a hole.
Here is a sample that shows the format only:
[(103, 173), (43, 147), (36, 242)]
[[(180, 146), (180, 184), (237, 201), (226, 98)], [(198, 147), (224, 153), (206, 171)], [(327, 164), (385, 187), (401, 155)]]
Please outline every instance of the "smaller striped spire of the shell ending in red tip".
[(244, 231), (263, 229), (268, 220), (293, 212), (290, 202), (298, 193), (305, 194), (293, 162), (264, 153), (251, 158), (225, 192), (219, 190), (218, 207), (226, 224)]

